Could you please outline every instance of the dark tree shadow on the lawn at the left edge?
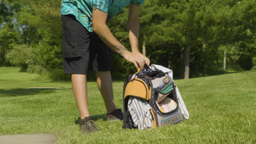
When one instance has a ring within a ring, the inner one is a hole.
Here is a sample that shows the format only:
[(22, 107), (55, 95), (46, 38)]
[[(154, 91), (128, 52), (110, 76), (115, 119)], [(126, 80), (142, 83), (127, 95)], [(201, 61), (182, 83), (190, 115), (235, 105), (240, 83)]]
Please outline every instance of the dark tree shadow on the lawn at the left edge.
[(14, 88), (14, 89), (0, 89), (0, 98), (1, 97), (19, 97), (35, 94), (46, 94), (53, 93), (57, 88)]

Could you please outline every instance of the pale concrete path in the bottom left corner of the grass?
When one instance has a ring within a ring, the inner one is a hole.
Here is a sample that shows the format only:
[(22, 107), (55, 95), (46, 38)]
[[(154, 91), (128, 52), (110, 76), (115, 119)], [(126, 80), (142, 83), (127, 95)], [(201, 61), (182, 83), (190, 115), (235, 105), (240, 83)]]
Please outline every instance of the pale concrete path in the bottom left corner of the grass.
[(0, 135), (1, 144), (54, 144), (51, 134)]

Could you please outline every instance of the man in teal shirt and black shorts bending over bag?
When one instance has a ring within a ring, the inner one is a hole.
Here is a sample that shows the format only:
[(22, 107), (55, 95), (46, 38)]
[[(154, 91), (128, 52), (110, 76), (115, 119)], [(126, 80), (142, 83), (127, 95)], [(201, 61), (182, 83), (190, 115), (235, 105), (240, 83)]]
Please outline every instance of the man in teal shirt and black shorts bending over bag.
[[(96, 71), (98, 89), (107, 109), (107, 121), (122, 120), (123, 113), (114, 103), (110, 75), (110, 49), (136, 68), (143, 69), (149, 59), (138, 50), (139, 5), (143, 0), (62, 0), (63, 69), (72, 76), (72, 88), (80, 113), (80, 130), (89, 134), (98, 130), (88, 110), (86, 74)], [(130, 4), (128, 31), (132, 52), (110, 32), (107, 20)]]

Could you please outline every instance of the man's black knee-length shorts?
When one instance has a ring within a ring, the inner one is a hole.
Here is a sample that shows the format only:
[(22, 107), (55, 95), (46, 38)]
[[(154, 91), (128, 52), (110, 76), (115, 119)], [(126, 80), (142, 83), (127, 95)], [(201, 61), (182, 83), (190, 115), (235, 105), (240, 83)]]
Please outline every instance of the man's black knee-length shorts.
[(62, 15), (64, 74), (110, 70), (110, 48), (89, 32), (74, 15)]

